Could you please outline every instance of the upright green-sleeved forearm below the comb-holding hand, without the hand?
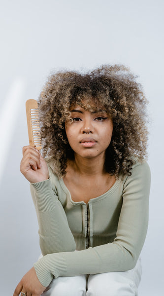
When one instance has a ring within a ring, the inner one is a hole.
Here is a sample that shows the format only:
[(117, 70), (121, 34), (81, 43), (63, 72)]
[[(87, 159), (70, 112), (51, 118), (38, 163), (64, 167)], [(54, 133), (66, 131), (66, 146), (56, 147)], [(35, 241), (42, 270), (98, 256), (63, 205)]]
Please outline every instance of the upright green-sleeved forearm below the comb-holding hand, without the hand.
[(51, 186), (50, 180), (31, 184), (31, 193), (39, 225), (43, 255), (75, 250), (66, 213)]

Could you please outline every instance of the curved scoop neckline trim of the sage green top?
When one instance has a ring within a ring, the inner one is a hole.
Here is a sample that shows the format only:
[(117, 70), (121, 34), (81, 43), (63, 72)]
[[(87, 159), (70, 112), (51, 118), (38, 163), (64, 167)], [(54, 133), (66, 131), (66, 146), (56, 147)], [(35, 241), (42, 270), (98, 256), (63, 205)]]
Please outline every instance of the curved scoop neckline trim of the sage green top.
[(108, 197), (109, 195), (111, 195), (112, 193), (114, 193), (114, 191), (117, 189), (118, 185), (120, 184), (121, 179), (122, 179), (122, 176), (120, 174), (118, 179), (115, 181), (115, 183), (105, 193), (103, 193), (103, 194), (101, 194), (101, 195), (99, 195), (97, 197), (91, 198), (88, 201), (88, 203), (84, 202), (83, 200), (82, 201), (73, 201), (72, 198), (71, 198), (70, 191), (66, 187), (63, 178), (60, 178), (59, 182), (60, 182), (60, 185), (61, 185), (62, 189), (64, 190), (64, 192), (69, 196), (69, 201), (70, 201), (70, 203), (72, 205), (80, 205), (80, 204), (87, 205), (87, 204), (94, 203), (94, 202), (97, 202), (99, 200), (102, 200), (102, 199)]

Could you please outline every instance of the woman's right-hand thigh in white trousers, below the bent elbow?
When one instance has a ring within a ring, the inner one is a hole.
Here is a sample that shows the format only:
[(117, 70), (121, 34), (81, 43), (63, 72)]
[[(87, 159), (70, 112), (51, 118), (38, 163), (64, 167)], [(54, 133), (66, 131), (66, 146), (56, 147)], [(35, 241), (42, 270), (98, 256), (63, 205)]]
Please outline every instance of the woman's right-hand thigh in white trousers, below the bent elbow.
[(87, 296), (137, 296), (141, 279), (141, 259), (131, 270), (90, 274)]

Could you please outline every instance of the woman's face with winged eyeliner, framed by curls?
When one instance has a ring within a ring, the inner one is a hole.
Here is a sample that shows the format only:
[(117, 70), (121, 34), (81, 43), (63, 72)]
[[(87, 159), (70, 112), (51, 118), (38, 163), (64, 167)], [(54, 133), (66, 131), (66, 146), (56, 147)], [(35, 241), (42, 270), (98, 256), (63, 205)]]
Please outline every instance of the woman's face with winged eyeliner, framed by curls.
[(66, 121), (66, 136), (76, 155), (84, 158), (104, 154), (109, 146), (113, 123), (109, 114), (90, 112), (75, 105), (70, 108), (73, 122)]

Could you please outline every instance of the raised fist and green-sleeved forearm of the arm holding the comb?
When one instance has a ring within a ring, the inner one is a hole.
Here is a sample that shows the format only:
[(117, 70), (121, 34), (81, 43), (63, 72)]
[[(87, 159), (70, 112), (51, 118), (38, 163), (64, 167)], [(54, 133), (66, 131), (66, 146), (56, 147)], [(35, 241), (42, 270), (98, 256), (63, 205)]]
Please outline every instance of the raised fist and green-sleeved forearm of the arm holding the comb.
[[(32, 146), (23, 147), (20, 171), (31, 183), (42, 254), (52, 253), (50, 250), (74, 251), (75, 241), (68, 226), (64, 208), (50, 182), (51, 169), (37, 149)], [(55, 238), (55, 244), (52, 237)]]

